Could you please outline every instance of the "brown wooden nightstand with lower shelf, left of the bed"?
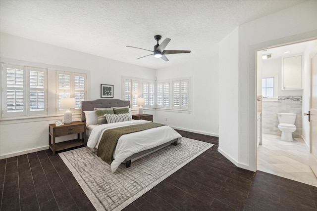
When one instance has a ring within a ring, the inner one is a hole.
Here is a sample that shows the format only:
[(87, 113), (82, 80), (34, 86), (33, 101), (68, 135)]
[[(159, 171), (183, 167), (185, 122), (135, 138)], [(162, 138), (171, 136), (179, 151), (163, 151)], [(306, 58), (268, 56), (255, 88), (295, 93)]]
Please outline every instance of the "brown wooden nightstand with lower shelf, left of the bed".
[[(62, 126), (55, 126), (55, 124), (50, 124), (49, 133), (49, 145), (50, 149), (53, 152), (53, 155), (55, 155), (55, 152), (59, 150), (86, 145), (86, 123), (84, 122), (77, 121)], [(76, 133), (78, 133), (77, 139), (55, 143), (55, 137)], [(83, 133), (83, 139), (80, 139), (80, 133)]]

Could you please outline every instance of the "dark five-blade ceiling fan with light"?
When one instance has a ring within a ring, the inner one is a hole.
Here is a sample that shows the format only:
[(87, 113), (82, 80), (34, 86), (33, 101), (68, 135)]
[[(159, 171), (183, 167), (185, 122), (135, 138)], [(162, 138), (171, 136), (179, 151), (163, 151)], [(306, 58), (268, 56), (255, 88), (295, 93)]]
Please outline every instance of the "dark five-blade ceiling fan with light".
[[(165, 38), (165, 40), (159, 44), (159, 40), (161, 38), (162, 38), (162, 36), (160, 36), (160, 35), (154, 36), (154, 39), (156, 41), (158, 41), (158, 44), (154, 45), (154, 50), (148, 50), (148, 49), (144, 49), (144, 48), (140, 48), (140, 47), (134, 47), (134, 48), (151, 51), (153, 53), (146, 55), (146, 56), (154, 55), (154, 57), (156, 57), (156, 58), (162, 58), (165, 62), (169, 61), (167, 59), (167, 57), (165, 56), (165, 54), (190, 53), (190, 50), (165, 50), (166, 45), (168, 44), (168, 42), (171, 39)], [(127, 47), (133, 47), (133, 46), (127, 45)], [(141, 59), (141, 58), (146, 57), (146, 56), (142, 56), (142, 57), (137, 58), (137, 59)]]

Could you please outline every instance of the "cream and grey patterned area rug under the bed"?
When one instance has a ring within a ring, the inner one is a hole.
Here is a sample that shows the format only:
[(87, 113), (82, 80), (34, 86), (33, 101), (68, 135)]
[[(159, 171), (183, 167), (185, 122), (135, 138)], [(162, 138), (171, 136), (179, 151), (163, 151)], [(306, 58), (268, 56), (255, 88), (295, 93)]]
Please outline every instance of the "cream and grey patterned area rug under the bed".
[(134, 161), (130, 168), (121, 164), (114, 173), (96, 149), (83, 147), (58, 155), (97, 211), (120, 211), (212, 146), (183, 137), (181, 144)]

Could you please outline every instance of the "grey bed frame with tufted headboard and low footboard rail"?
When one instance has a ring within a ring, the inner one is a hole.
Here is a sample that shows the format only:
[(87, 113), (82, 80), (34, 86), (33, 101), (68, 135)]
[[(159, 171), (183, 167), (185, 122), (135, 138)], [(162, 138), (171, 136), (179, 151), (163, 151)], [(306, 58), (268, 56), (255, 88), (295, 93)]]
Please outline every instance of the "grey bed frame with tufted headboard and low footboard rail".
[[(84, 111), (94, 111), (95, 108), (111, 108), (111, 107), (125, 107), (129, 106), (130, 108), (130, 101), (124, 101), (120, 99), (97, 99), (92, 101), (82, 101), (81, 102), (81, 121), (85, 122), (85, 113)], [(134, 155), (131, 155), (130, 157), (125, 159), (125, 165), (126, 168), (129, 168), (131, 166), (131, 162), (138, 160), (146, 155), (149, 155), (153, 152), (158, 151), (159, 149), (168, 146), (170, 144), (174, 143), (174, 145), (177, 145), (177, 139), (170, 140), (162, 145), (159, 145), (157, 147), (154, 147), (152, 149), (148, 149), (139, 153), (136, 153)]]

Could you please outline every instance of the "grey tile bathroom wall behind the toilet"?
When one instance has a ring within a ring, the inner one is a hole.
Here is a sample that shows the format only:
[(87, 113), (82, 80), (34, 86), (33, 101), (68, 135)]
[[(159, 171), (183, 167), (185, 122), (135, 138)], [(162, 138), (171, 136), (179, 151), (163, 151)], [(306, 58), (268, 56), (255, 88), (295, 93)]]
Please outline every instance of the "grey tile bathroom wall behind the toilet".
[(262, 101), (262, 132), (265, 134), (281, 135), (278, 129), (277, 112), (295, 113), (296, 130), (294, 138), (302, 135), (302, 96), (279, 96), (278, 101)]

